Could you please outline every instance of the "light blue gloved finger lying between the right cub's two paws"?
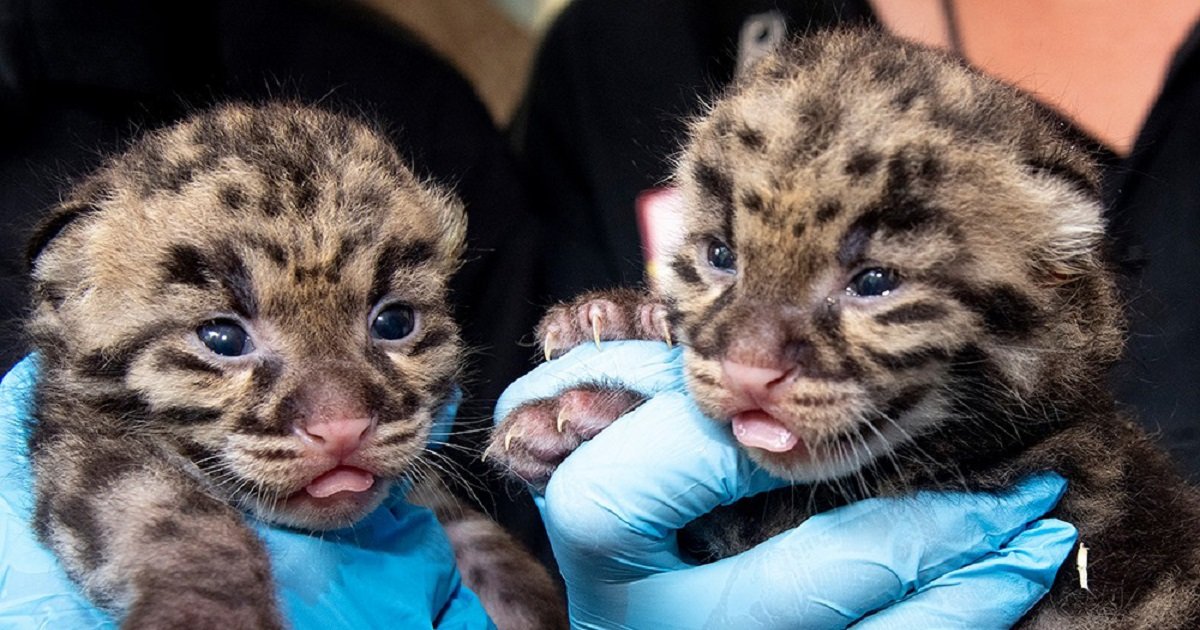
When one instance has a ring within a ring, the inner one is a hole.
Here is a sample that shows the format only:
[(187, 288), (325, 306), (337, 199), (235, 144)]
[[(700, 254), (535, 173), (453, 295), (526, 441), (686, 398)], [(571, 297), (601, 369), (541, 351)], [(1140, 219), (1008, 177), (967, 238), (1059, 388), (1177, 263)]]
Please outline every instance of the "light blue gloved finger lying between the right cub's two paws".
[(496, 403), (496, 421), (529, 401), (557, 396), (560, 391), (592, 383), (614, 386), (653, 396), (660, 391), (682, 390), (683, 348), (652, 341), (613, 341), (580, 346), (571, 352), (539, 365), (504, 390)]

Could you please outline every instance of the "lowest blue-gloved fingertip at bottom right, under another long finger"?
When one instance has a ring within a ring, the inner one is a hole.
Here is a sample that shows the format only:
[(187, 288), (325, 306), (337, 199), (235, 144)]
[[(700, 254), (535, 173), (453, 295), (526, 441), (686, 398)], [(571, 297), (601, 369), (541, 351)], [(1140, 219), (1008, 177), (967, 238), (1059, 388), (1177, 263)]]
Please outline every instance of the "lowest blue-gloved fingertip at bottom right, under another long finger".
[(1012, 628), (1050, 592), (1076, 538), (1069, 523), (1037, 521), (996, 553), (934, 580), (854, 628)]

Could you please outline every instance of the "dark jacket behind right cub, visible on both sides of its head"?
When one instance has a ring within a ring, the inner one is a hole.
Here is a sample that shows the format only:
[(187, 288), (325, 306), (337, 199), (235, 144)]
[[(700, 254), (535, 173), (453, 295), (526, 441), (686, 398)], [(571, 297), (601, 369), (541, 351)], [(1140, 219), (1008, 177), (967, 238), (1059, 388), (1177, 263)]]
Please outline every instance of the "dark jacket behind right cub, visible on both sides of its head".
[[(535, 211), (552, 239), (547, 296), (642, 281), (638, 192), (660, 186), (686, 116), (734, 72), (739, 30), (776, 11), (797, 34), (877, 24), (865, 1), (576, 0), (546, 37), (515, 128)], [(1128, 360), (1118, 400), (1200, 481), (1200, 34), (1178, 52), (1133, 155), (1102, 160)]]

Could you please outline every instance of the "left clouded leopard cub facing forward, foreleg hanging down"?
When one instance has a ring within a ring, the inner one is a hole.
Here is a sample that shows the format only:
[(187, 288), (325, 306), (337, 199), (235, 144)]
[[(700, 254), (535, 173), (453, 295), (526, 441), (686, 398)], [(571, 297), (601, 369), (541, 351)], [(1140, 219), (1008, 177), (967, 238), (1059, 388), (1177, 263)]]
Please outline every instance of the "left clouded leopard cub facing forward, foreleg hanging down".
[[(414, 472), (460, 377), (464, 234), (379, 133), (299, 106), (224, 106), (109, 161), (31, 244), (38, 536), (125, 628), (282, 626), (244, 514), (342, 528)], [(565, 626), (548, 575), (450, 500), (497, 623)]]

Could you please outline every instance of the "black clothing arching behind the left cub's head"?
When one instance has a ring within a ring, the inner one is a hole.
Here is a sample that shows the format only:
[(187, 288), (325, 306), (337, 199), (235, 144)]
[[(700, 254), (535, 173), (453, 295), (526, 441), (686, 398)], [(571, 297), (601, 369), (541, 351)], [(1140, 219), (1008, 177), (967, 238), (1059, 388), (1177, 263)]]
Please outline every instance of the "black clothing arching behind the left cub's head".
[[(484, 426), (532, 353), (514, 343), (538, 313), (526, 295), (540, 232), (508, 144), (470, 86), (386, 20), (352, 2), (0, 0), (0, 362), (26, 350), (23, 242), (72, 178), (145, 127), (227, 100), (268, 97), (361, 113), (390, 130), (419, 173), (451, 186), (469, 216), (454, 283), (474, 355), (460, 418)], [(461, 425), (462, 426), (462, 425)], [(448, 452), (476, 475), (486, 433)], [(488, 478), (488, 484), (496, 480)], [(532, 509), (492, 487), (485, 505), (533, 532)], [(524, 500), (523, 494), (514, 493)]]

